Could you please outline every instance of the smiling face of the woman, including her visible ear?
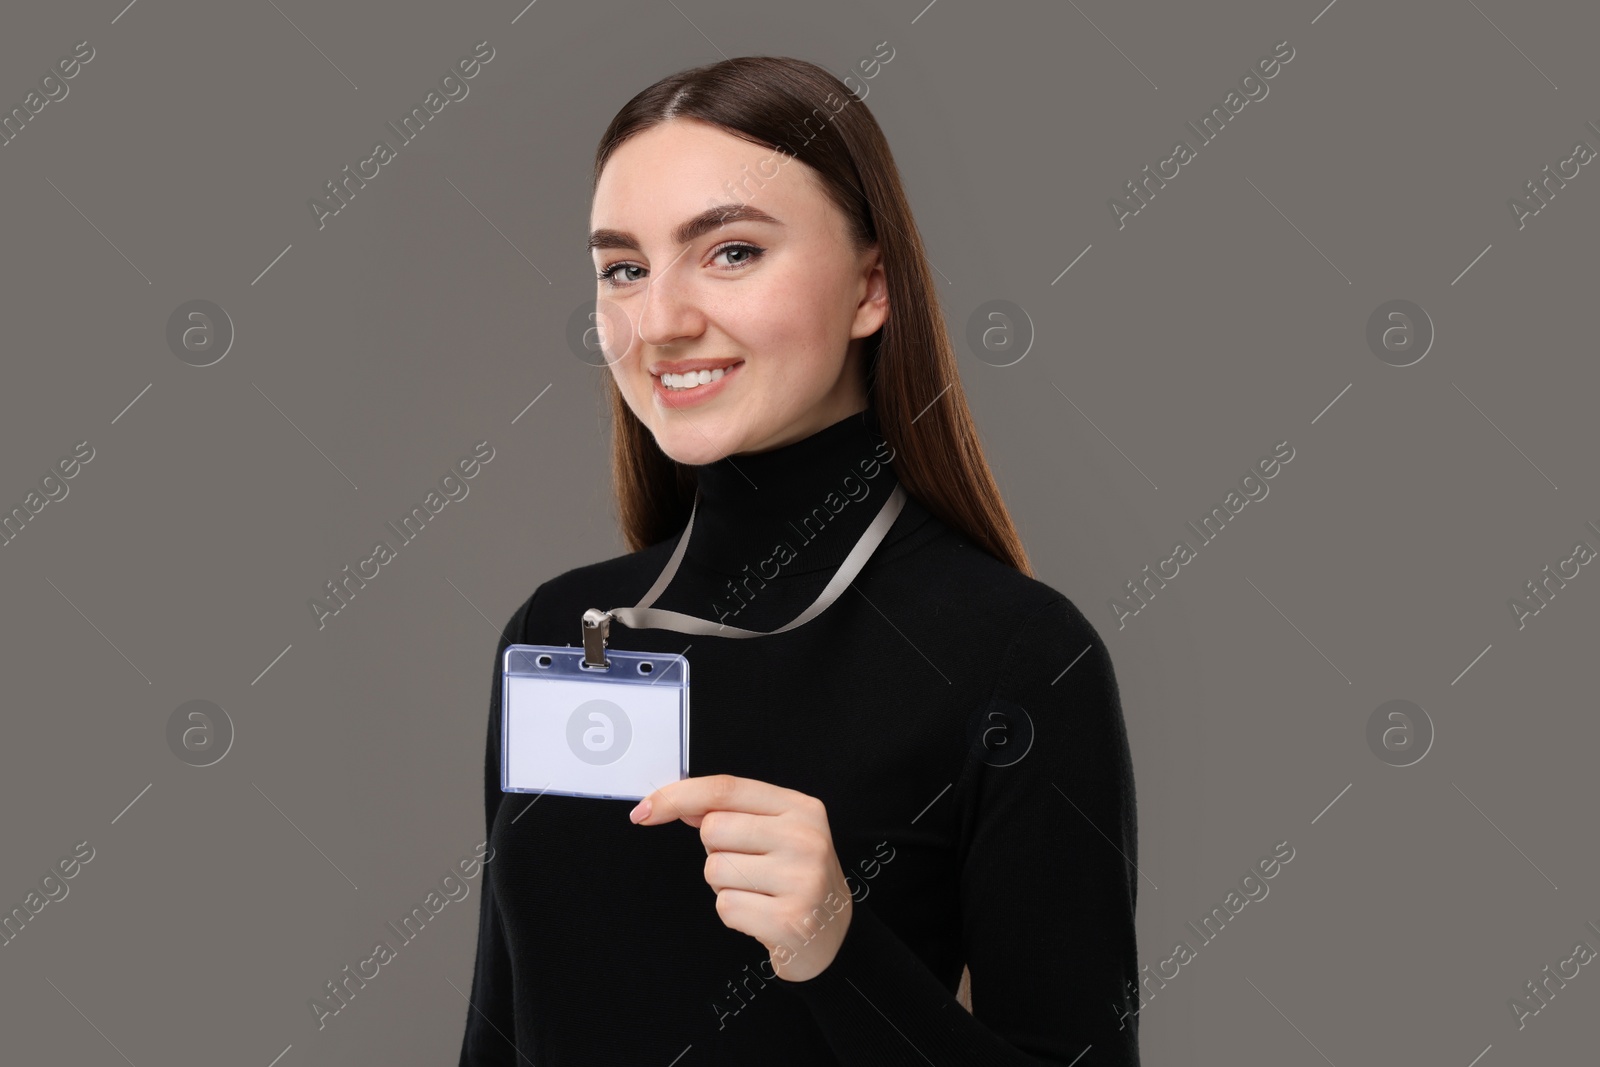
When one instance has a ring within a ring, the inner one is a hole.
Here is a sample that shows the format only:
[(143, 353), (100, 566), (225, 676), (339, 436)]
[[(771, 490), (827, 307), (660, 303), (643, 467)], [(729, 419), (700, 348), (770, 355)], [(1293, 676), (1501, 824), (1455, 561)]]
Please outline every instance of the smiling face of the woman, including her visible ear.
[(883, 269), (805, 163), (669, 120), (606, 160), (590, 229), (611, 374), (672, 459), (766, 451), (867, 406)]

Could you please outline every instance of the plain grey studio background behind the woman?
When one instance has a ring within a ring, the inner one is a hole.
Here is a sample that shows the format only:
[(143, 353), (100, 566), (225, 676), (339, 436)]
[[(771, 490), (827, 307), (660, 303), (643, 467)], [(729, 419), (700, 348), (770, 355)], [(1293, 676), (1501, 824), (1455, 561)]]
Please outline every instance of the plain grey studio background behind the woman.
[[(595, 142), (669, 72), (843, 77), (885, 40), (867, 106), (958, 344), (989, 299), (1037, 330), (1014, 366), (963, 350), (963, 384), (1040, 579), (1117, 665), (1141, 963), (1296, 849), (1147, 1003), (1146, 1062), (1594, 1054), (1594, 968), (1520, 1032), (1507, 1000), (1600, 947), (1600, 576), (1523, 630), (1507, 598), (1600, 545), (1600, 176), (1522, 230), (1507, 198), (1600, 147), (1600, 19), (923, 5), (8, 8), (6, 109), (96, 58), (0, 149), (0, 502), (96, 458), (0, 549), (0, 902), (96, 856), (0, 949), (6, 1059), (454, 1062), (477, 880), (326, 1029), (307, 1000), (482, 840), (498, 627), (622, 550), (603, 371), (565, 342)], [(467, 99), (318, 232), (307, 198), (480, 40)], [(1118, 230), (1107, 198), (1280, 40), (1270, 94)], [(1437, 326), (1408, 368), (1363, 339), (1397, 298)], [(190, 299), (237, 326), (208, 368), (165, 344)], [(307, 600), (483, 438), (470, 494), (318, 630)], [(1270, 496), (1118, 629), (1106, 601), (1280, 440)], [(190, 699), (237, 729), (210, 768), (165, 741)], [(1366, 745), (1390, 699), (1437, 729), (1414, 766)]]

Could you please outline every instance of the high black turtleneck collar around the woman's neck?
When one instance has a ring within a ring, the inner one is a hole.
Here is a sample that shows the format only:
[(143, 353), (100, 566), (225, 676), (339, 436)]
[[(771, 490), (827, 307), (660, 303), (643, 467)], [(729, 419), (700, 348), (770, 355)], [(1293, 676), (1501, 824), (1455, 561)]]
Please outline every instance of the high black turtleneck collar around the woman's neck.
[(798, 442), (694, 467), (685, 563), (726, 576), (837, 569), (894, 491), (893, 456), (867, 406)]

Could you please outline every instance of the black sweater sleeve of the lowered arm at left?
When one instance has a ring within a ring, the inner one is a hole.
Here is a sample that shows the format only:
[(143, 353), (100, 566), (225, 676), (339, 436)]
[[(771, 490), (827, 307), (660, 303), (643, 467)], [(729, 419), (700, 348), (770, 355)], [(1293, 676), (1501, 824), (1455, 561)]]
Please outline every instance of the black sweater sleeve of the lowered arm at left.
[[(490, 689), (488, 752), (483, 758), (483, 809), (486, 841), (494, 830), (494, 814), (499, 811), (499, 734), (501, 734), (501, 662), (510, 645), (523, 643), (523, 627), (538, 592), (523, 601), (501, 632), (494, 649), (494, 681)], [(490, 853), (493, 856), (493, 853)], [(467, 1029), (461, 1040), (459, 1067), (510, 1067), (518, 1062), (515, 1046), (517, 1021), (512, 1005), (510, 953), (506, 947), (506, 931), (501, 926), (499, 905), (494, 902), (494, 883), (488, 872), (478, 885), (478, 955), (472, 971), (472, 995), (467, 1008)]]

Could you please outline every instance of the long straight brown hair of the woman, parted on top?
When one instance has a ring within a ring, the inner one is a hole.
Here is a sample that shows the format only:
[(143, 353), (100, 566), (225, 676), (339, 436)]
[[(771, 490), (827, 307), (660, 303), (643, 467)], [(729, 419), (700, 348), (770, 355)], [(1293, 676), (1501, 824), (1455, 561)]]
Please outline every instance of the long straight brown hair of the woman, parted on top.
[[(808, 165), (845, 214), (856, 248), (878, 245), (890, 310), (866, 339), (864, 363), (867, 403), (894, 450), (894, 474), (946, 525), (1032, 577), (984, 461), (899, 170), (867, 106), (805, 59), (741, 56), (680, 70), (616, 114), (595, 152), (594, 186), (619, 144), (670, 118), (720, 126)], [(683, 528), (696, 475), (661, 451), (616, 379), (605, 379), (618, 518), (629, 550), (637, 552)]]

